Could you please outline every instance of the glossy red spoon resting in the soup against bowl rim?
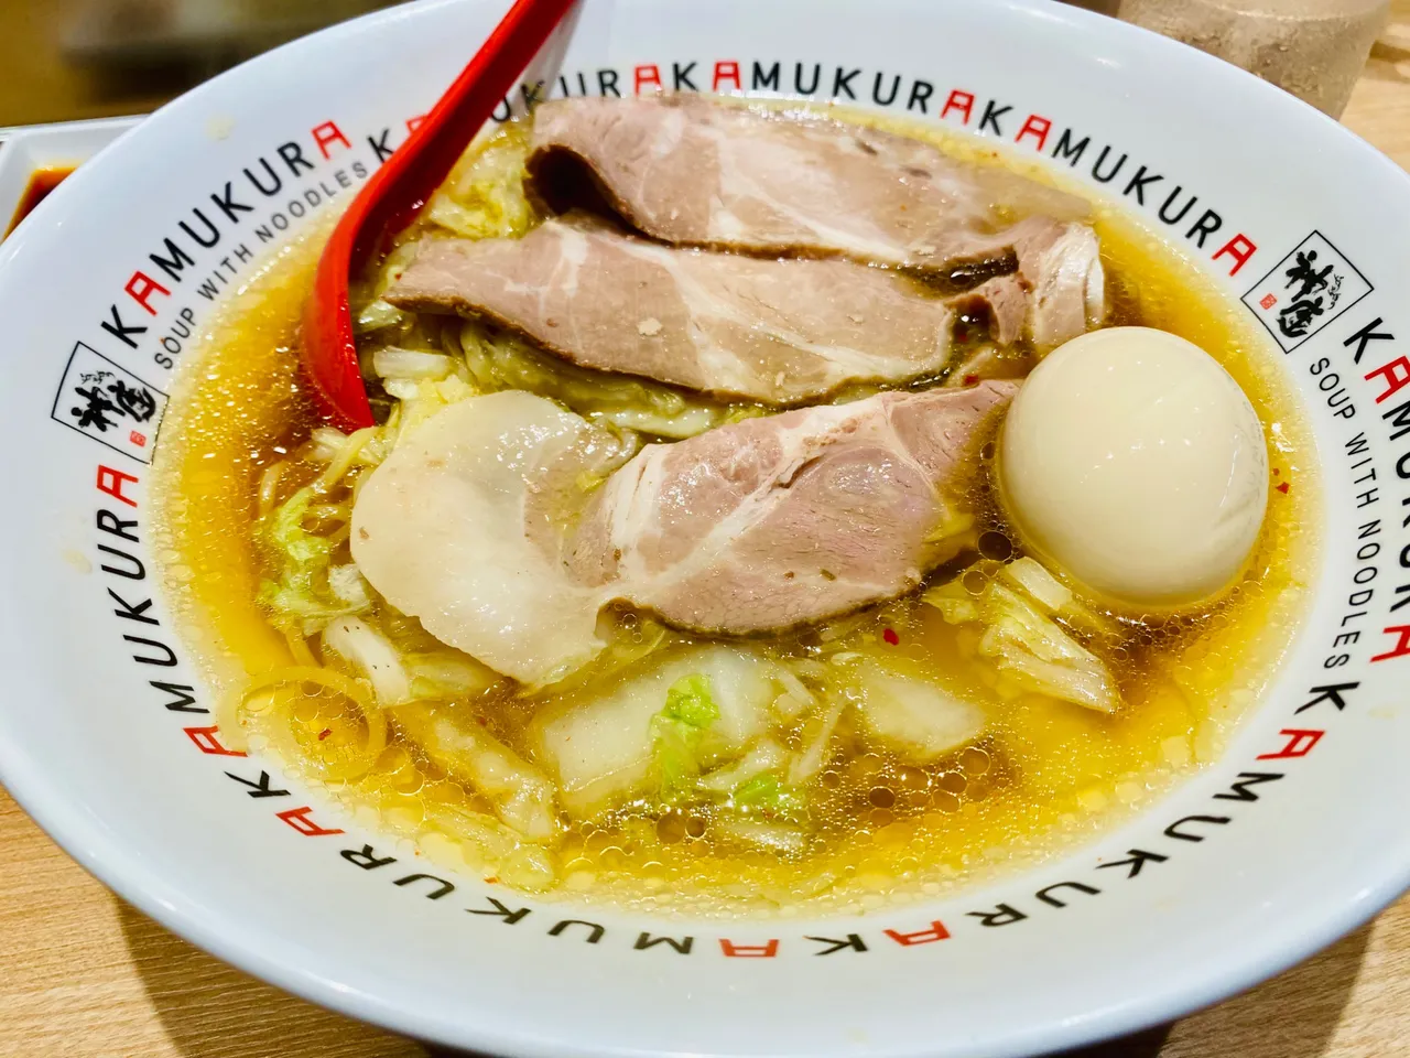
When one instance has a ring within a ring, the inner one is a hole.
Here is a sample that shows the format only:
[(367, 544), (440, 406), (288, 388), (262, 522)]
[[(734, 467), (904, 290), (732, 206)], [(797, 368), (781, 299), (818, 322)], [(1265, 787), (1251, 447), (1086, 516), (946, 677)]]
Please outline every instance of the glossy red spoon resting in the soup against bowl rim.
[(577, 0), (516, 0), (434, 110), (386, 159), (323, 250), (303, 309), (303, 370), (319, 412), (341, 430), (372, 426), (358, 368), (348, 276), (416, 217)]

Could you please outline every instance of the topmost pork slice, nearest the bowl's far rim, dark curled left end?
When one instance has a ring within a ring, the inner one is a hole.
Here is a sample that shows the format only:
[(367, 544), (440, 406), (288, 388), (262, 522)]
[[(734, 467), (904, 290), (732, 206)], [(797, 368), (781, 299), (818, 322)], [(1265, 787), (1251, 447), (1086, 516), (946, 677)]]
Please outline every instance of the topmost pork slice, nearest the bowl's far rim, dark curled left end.
[(1014, 271), (1008, 217), (1089, 214), (1076, 196), (919, 140), (694, 95), (544, 103), (527, 168), (548, 207), (605, 202), (666, 243), (842, 255), (957, 289)]

